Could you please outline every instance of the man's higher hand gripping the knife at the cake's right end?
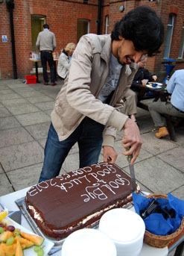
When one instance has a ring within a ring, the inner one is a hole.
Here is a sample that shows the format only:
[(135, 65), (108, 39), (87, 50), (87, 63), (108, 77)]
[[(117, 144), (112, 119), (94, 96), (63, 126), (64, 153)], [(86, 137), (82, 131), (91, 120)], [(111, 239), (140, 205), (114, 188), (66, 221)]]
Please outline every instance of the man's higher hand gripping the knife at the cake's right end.
[(130, 148), (128, 151), (122, 152), (122, 154), (125, 156), (133, 154), (131, 164), (135, 163), (142, 146), (142, 140), (136, 122), (133, 122), (130, 118), (124, 124), (124, 137), (121, 144), (124, 149)]

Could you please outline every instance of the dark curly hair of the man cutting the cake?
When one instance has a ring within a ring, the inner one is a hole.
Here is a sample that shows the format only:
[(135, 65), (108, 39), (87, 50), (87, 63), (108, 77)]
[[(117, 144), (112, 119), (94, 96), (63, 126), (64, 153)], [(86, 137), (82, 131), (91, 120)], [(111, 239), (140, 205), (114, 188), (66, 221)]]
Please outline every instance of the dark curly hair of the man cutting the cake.
[(130, 10), (112, 30), (112, 40), (118, 36), (131, 40), (136, 51), (147, 50), (149, 57), (159, 52), (164, 41), (164, 25), (150, 7), (140, 6)]

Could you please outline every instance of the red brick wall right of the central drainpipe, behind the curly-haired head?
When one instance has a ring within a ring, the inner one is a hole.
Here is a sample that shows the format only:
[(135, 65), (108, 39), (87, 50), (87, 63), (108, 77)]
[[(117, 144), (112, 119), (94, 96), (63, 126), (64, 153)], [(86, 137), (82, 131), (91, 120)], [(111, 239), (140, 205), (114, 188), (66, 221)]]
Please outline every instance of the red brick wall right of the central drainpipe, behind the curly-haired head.
[[(124, 11), (121, 12), (119, 7), (124, 4)], [(168, 25), (168, 16), (169, 13), (175, 13), (177, 18), (174, 24), (174, 35), (173, 41), (171, 46), (171, 58), (177, 59), (179, 49), (180, 49), (180, 39), (182, 28), (184, 25), (184, 1), (171, 1), (171, 0), (160, 0), (160, 3), (157, 4), (156, 1), (148, 1), (148, 0), (141, 0), (141, 1), (116, 1), (116, 0), (104, 0), (104, 12), (103, 12), (103, 19), (105, 20), (105, 16), (109, 14), (110, 16), (110, 31), (112, 31), (113, 25), (118, 19), (121, 19), (126, 13), (132, 10), (135, 7), (147, 5), (152, 7), (158, 16), (162, 17), (162, 22), (165, 25), (165, 34), (167, 32), (167, 25)], [(107, 11), (108, 10), (108, 11)], [(105, 24), (103, 24), (103, 29)], [(156, 57), (151, 57), (147, 60), (146, 68), (150, 70), (151, 73), (158, 75), (160, 81), (165, 78), (165, 66), (163, 63), (163, 53), (164, 53), (165, 43), (160, 48), (160, 54), (157, 54)], [(176, 69), (184, 69), (184, 60), (177, 60)]]

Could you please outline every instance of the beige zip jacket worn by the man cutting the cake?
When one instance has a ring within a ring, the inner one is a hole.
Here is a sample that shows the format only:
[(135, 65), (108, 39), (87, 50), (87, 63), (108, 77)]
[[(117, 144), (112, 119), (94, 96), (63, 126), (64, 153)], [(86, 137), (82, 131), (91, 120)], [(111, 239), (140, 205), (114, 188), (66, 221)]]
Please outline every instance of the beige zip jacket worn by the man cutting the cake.
[(103, 146), (113, 146), (116, 129), (122, 131), (128, 116), (118, 111), (130, 88), (137, 65), (122, 66), (118, 87), (110, 104), (98, 100), (107, 80), (112, 54), (109, 35), (87, 34), (80, 38), (71, 61), (69, 77), (57, 95), (51, 120), (59, 140), (65, 140), (85, 116), (105, 125)]

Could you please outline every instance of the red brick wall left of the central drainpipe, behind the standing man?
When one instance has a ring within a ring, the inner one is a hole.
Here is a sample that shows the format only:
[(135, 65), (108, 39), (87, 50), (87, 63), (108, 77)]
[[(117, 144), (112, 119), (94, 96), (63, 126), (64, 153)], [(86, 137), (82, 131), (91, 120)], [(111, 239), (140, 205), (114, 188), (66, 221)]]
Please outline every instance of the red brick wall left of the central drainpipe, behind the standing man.
[[(77, 43), (77, 19), (89, 19), (90, 32), (97, 33), (98, 4), (90, 0), (83, 1), (37, 1), (14, 0), (13, 23), (16, 46), (16, 68), (18, 78), (30, 73), (32, 63), (29, 60), (31, 51), (31, 14), (46, 16), (50, 30), (57, 40), (56, 51), (60, 52), (67, 43)], [(6, 3), (0, 5), (1, 35), (7, 35), (7, 43), (0, 42), (1, 78), (13, 78), (13, 60), (10, 37), (10, 13)]]

